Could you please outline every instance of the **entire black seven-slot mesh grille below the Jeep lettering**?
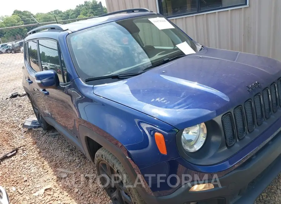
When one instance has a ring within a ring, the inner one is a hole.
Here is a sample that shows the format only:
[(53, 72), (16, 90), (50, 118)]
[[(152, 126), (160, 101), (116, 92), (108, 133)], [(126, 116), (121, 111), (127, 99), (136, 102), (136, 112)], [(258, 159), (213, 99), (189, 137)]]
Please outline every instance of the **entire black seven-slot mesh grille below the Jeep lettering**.
[(244, 107), (239, 105), (233, 112), (221, 117), (227, 146), (234, 145), (236, 140), (241, 140), (247, 133), (254, 131), (257, 125), (263, 124), (264, 119), (269, 119), (271, 114), (275, 114), (279, 107), (281, 107), (281, 78), (266, 87), (262, 93), (256, 94), (254, 100), (246, 100)]

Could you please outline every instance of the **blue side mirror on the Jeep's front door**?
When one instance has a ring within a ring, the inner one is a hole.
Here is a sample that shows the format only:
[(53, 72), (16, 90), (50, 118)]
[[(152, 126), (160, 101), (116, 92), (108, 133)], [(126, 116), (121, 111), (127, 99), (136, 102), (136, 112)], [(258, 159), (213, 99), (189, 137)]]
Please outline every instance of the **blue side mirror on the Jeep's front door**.
[(35, 82), (42, 89), (56, 89), (60, 81), (55, 70), (44, 70), (35, 73)]

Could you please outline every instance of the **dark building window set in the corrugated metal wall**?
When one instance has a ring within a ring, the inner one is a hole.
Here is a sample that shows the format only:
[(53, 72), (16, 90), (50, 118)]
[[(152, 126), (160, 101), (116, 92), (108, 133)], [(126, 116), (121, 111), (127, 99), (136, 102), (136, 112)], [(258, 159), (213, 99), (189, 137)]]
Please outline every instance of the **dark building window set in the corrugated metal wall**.
[(247, 0), (157, 0), (165, 17), (178, 17), (247, 5)]

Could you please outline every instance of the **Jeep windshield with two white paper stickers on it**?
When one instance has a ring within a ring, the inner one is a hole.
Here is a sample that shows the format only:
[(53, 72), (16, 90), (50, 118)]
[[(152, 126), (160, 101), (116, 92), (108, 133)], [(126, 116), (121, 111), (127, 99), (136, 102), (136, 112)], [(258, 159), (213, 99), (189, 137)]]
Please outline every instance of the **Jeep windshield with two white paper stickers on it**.
[(91, 27), (67, 36), (82, 80), (129, 74), (180, 54), (197, 51), (194, 42), (160, 15), (135, 17)]

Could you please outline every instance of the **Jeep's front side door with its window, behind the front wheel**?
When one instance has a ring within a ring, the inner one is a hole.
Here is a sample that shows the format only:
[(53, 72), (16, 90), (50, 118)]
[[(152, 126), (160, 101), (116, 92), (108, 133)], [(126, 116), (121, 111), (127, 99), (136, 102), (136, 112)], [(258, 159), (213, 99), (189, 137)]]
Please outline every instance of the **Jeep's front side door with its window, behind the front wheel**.
[(72, 132), (75, 129), (75, 108), (71, 98), (71, 83), (67, 77), (67, 68), (64, 65), (58, 42), (52, 39), (39, 39), (38, 44), (40, 63), (52, 64), (49, 68), (57, 72), (60, 80), (60, 87), (57, 89), (46, 89), (45, 112), (48, 113), (46, 121), (60, 132), (64, 132), (74, 144), (78, 144), (78, 137)]

